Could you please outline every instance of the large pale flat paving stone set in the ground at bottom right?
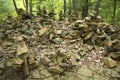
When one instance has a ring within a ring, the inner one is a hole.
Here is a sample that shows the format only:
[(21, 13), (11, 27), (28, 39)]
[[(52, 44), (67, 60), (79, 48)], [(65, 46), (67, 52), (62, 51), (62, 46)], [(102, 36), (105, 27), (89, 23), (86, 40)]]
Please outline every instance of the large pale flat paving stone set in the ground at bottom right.
[(87, 67), (82, 67), (78, 70), (78, 73), (84, 76), (91, 77), (92, 76), (92, 71), (88, 69)]

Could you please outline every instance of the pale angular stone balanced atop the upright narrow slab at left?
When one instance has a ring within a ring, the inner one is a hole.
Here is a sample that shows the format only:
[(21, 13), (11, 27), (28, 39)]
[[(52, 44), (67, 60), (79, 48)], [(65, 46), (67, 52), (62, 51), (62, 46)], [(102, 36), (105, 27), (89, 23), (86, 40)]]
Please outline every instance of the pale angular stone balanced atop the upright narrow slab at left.
[(28, 52), (28, 48), (25, 45), (25, 43), (19, 44), (17, 46), (17, 55), (22, 55), (24, 53)]

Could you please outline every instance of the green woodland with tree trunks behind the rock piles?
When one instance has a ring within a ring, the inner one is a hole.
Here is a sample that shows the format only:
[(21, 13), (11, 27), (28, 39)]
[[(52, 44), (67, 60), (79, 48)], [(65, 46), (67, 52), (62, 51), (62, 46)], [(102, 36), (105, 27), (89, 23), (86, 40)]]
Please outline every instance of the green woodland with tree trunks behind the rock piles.
[[(69, 17), (72, 10), (76, 10), (79, 19), (88, 16), (93, 10), (111, 23), (114, 18), (115, 24), (120, 26), (120, 0), (0, 0), (0, 23), (8, 15), (17, 16), (16, 8), (23, 8), (28, 13), (36, 15), (37, 7), (45, 7), (47, 11), (54, 10), (56, 19), (59, 18), (59, 12), (62, 10), (65, 17)], [(99, 9), (99, 10), (98, 10)]]

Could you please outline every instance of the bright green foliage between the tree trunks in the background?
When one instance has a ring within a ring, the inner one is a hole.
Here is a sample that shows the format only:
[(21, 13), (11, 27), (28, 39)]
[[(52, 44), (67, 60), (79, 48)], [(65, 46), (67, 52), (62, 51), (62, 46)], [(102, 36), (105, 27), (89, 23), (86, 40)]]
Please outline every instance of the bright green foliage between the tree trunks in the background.
[[(58, 14), (64, 8), (64, 0), (32, 0), (33, 1), (33, 12), (36, 12), (37, 5), (40, 5), (41, 8), (46, 7), (47, 11), (54, 9), (56, 13), (56, 18), (58, 18)], [(67, 15), (70, 14), (70, 9), (72, 9), (72, 0), (67, 1)], [(84, 0), (78, 0), (77, 6), (79, 13), (81, 15), (82, 6)], [(113, 5), (114, 0), (101, 0), (99, 7), (99, 14), (103, 17), (104, 21), (110, 22), (111, 16), (113, 16)], [(89, 0), (89, 12), (92, 11), (96, 0)], [(18, 8), (24, 8), (23, 0), (16, 0)], [(117, 8), (116, 8), (116, 24), (120, 26), (120, 0), (117, 0)], [(16, 16), (14, 5), (12, 0), (0, 0), (0, 22), (5, 20), (8, 14), (12, 14)]]

